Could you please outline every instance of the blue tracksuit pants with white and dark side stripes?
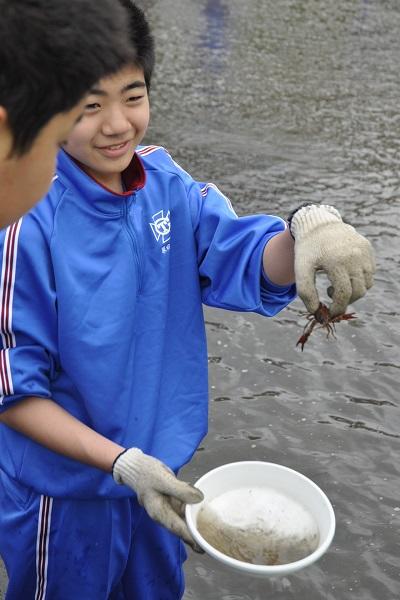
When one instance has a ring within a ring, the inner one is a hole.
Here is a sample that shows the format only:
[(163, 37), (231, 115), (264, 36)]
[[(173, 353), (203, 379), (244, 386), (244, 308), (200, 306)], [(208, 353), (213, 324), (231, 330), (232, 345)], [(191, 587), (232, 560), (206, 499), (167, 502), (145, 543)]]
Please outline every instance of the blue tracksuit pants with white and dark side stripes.
[(179, 600), (182, 542), (133, 499), (37, 495), (0, 471), (6, 600)]

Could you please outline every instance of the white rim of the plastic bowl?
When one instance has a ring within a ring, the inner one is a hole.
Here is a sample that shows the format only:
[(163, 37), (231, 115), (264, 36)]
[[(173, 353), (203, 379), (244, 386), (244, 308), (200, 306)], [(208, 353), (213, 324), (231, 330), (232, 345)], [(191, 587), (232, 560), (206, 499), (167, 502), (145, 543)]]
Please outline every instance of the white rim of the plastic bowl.
[(219, 471), (226, 470), (227, 468), (233, 469), (239, 465), (241, 467), (243, 467), (243, 466), (246, 467), (246, 466), (255, 465), (255, 464), (257, 464), (257, 465), (262, 464), (265, 466), (273, 466), (273, 467), (277, 468), (278, 470), (293, 473), (296, 477), (299, 477), (300, 479), (303, 479), (308, 484), (310, 484), (311, 487), (313, 487), (315, 489), (315, 491), (319, 494), (319, 496), (322, 498), (322, 500), (327, 508), (327, 511), (328, 511), (329, 527), (328, 527), (328, 531), (325, 536), (325, 539), (318, 546), (318, 548), (316, 548), (314, 550), (314, 552), (311, 552), (311, 554), (308, 554), (307, 556), (305, 556), (304, 558), (301, 558), (300, 560), (296, 560), (294, 562), (286, 563), (283, 565), (257, 565), (257, 564), (253, 564), (253, 563), (246, 563), (246, 562), (238, 560), (236, 558), (231, 558), (230, 556), (227, 556), (223, 552), (220, 552), (219, 550), (214, 548), (214, 546), (209, 544), (207, 542), (207, 540), (204, 539), (203, 536), (199, 533), (196, 523), (195, 523), (195, 520), (194, 520), (194, 517), (193, 517), (193, 513), (192, 513), (193, 508), (197, 506), (196, 504), (187, 504), (186, 508), (185, 508), (186, 523), (189, 528), (189, 531), (190, 531), (191, 535), (193, 536), (193, 538), (195, 539), (195, 541), (199, 544), (199, 546), (203, 550), (205, 550), (205, 552), (207, 554), (209, 554), (213, 558), (219, 560), (220, 562), (224, 563), (228, 567), (235, 569), (236, 571), (240, 571), (242, 573), (247, 572), (247, 573), (253, 574), (253, 575), (264, 575), (264, 576), (287, 575), (289, 573), (299, 571), (300, 569), (303, 569), (304, 567), (307, 567), (307, 566), (313, 564), (323, 554), (325, 554), (325, 552), (328, 550), (329, 546), (332, 543), (333, 537), (335, 535), (335, 529), (336, 529), (336, 518), (335, 518), (335, 513), (333, 510), (332, 504), (331, 504), (329, 498), (327, 497), (327, 495), (325, 494), (325, 492), (323, 492), (321, 490), (321, 488), (312, 479), (310, 479), (306, 475), (303, 475), (299, 471), (296, 471), (295, 469), (286, 467), (285, 465), (280, 465), (279, 463), (272, 463), (272, 462), (262, 461), (262, 460), (244, 460), (244, 461), (236, 461), (236, 462), (226, 463), (224, 465), (220, 465), (219, 467), (215, 467), (214, 469), (211, 469), (210, 471), (207, 471), (207, 473), (202, 475), (196, 481), (194, 486), (201, 489), (201, 484), (204, 481), (206, 481), (210, 477), (216, 475)]

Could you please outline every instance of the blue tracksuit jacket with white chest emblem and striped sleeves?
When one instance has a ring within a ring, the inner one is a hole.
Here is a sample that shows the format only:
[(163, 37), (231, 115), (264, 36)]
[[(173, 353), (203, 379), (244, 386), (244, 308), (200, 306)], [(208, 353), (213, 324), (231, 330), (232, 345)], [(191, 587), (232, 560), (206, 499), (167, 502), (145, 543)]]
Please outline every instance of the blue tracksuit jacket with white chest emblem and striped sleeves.
[[(134, 177), (130, 178), (130, 174)], [(261, 275), (277, 217), (238, 218), (162, 148), (137, 149), (116, 194), (64, 152), (47, 196), (1, 232), (0, 410), (52, 398), (174, 470), (207, 430), (202, 302), (272, 316), (295, 295)], [(0, 468), (53, 497), (131, 495), (0, 425)]]

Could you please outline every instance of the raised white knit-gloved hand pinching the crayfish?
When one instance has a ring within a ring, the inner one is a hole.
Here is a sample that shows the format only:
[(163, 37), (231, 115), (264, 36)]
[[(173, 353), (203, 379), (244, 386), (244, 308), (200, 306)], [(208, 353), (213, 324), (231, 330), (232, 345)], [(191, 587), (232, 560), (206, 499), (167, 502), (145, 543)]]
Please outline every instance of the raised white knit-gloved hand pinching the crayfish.
[(331, 317), (344, 313), (348, 304), (372, 286), (372, 246), (354, 227), (343, 223), (333, 206), (300, 207), (289, 217), (289, 229), (295, 240), (297, 292), (310, 313), (315, 313), (320, 302), (315, 285), (317, 271), (324, 271), (331, 282)]

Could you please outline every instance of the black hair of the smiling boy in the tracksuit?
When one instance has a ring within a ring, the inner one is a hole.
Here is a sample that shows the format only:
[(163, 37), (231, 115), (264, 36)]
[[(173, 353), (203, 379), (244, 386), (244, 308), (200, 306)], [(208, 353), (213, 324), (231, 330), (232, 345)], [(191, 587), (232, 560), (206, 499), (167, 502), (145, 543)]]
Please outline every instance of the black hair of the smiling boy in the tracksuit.
[(147, 90), (150, 90), (151, 77), (154, 69), (155, 53), (154, 38), (144, 12), (131, 0), (119, 0), (126, 8), (129, 20), (131, 44), (135, 48), (135, 65), (143, 69)]

